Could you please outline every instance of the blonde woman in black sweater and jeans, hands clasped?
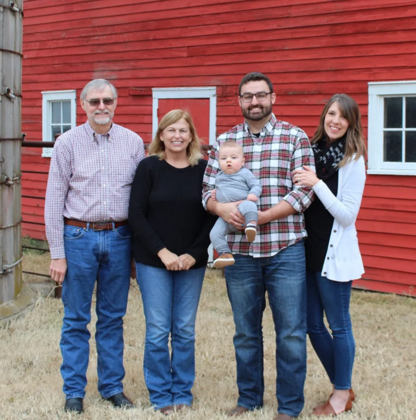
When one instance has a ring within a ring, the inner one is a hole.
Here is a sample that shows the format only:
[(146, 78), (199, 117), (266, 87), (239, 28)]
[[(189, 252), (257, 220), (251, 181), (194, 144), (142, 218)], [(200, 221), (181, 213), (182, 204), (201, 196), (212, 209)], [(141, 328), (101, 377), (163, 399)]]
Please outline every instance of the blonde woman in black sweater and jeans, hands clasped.
[(196, 310), (216, 219), (202, 206), (206, 161), (200, 148), (190, 114), (168, 112), (137, 167), (130, 195), (146, 318), (144, 375), (151, 403), (165, 415), (192, 402)]

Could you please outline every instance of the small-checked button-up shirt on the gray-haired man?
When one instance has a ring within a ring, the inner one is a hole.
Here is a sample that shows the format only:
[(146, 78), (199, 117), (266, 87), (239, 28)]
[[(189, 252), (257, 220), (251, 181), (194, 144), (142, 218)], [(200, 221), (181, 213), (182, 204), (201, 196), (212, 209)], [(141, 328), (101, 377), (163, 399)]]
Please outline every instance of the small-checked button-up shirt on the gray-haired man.
[(87, 122), (56, 139), (45, 201), (51, 258), (65, 258), (64, 217), (127, 220), (131, 183), (144, 157), (140, 136), (114, 123), (107, 134), (94, 133)]

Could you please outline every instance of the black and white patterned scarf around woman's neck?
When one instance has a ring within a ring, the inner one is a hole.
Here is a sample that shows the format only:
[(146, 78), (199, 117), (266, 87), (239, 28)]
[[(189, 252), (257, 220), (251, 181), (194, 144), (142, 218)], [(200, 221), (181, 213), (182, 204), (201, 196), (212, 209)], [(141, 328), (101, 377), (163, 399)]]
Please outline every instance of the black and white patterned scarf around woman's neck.
[(321, 138), (312, 145), (315, 156), (316, 176), (319, 179), (328, 179), (335, 171), (345, 156), (346, 136), (341, 137), (332, 143), (327, 143), (326, 138)]

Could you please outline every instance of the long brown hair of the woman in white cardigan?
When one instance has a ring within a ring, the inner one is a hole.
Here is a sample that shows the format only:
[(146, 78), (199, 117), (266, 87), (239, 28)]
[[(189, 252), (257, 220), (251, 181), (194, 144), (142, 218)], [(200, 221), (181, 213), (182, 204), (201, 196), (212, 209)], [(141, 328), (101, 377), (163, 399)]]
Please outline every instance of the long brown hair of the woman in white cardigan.
[(348, 121), (347, 136), (345, 142), (345, 157), (337, 165), (339, 168), (346, 165), (351, 159), (354, 153), (356, 156), (354, 160), (365, 157), (366, 147), (364, 143), (363, 127), (361, 125), (361, 113), (358, 104), (352, 99), (351, 96), (345, 93), (336, 93), (329, 99), (325, 105), (321, 118), (319, 120), (319, 126), (313, 134), (311, 143), (320, 141), (321, 138), (328, 138), (325, 133), (325, 116), (328, 112), (329, 107), (336, 102), (340, 109), (341, 115)]

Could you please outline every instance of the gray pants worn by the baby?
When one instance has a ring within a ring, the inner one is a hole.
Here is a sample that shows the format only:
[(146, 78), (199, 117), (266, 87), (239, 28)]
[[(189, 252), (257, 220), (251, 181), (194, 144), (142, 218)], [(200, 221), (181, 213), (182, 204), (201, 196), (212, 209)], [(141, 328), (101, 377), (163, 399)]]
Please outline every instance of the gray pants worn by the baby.
[[(244, 216), (246, 224), (259, 219), (259, 213), (257, 212), (257, 205), (252, 201), (243, 201), (237, 207), (239, 212)], [(214, 227), (211, 229), (209, 237), (211, 239), (212, 246), (220, 255), (223, 253), (231, 254), (230, 247), (228, 246), (226, 236), (229, 233), (237, 232), (235, 226), (224, 221), (222, 217), (219, 217), (215, 222)]]

